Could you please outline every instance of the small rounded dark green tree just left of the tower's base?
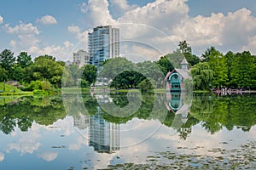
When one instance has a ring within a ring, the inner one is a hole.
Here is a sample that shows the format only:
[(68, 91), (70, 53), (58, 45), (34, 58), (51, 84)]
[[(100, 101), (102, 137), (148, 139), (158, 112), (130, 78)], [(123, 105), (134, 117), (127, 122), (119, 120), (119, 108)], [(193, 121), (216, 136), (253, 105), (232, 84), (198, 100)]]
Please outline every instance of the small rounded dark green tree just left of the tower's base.
[(90, 84), (96, 82), (97, 68), (95, 65), (84, 65), (80, 70), (83, 72), (82, 79), (86, 80)]

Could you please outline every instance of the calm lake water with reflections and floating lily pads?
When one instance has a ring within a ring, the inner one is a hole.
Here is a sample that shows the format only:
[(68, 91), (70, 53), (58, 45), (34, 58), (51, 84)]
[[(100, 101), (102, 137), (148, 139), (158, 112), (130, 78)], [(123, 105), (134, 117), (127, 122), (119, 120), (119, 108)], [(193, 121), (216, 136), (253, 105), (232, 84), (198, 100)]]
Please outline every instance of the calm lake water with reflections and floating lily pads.
[(0, 98), (0, 169), (256, 169), (256, 95)]

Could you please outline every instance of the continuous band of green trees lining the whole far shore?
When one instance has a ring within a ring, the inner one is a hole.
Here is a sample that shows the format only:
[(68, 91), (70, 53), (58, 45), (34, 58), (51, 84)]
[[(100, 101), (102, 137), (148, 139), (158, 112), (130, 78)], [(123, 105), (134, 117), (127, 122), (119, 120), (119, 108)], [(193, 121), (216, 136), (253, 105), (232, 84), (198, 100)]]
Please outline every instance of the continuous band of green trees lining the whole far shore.
[(11, 50), (4, 49), (0, 53), (0, 82), (16, 80), (24, 90), (47, 90), (61, 86), (89, 88), (96, 83), (97, 77), (105, 77), (113, 88), (141, 88), (148, 91), (164, 88), (163, 80), (167, 72), (180, 68), (183, 58), (189, 62), (196, 90), (256, 88), (256, 57), (250, 52), (222, 54), (211, 47), (197, 57), (192, 54), (192, 48), (186, 41), (179, 42), (176, 51), (161, 56), (159, 60), (134, 64), (125, 58), (108, 59), (100, 71), (94, 65), (81, 68), (74, 64), (65, 65), (50, 55), (32, 60), (29, 54), (21, 52), (15, 57)]

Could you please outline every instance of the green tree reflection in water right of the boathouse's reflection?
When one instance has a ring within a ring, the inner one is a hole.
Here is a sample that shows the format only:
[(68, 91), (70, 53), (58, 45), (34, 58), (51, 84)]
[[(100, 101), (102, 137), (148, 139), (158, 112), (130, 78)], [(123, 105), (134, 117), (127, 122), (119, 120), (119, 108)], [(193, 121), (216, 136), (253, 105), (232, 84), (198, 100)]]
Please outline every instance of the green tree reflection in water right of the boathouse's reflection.
[(190, 109), (191, 114), (202, 121), (202, 127), (216, 133), (222, 127), (232, 130), (241, 127), (248, 131), (256, 124), (256, 96), (242, 95), (214, 97), (197, 95)]

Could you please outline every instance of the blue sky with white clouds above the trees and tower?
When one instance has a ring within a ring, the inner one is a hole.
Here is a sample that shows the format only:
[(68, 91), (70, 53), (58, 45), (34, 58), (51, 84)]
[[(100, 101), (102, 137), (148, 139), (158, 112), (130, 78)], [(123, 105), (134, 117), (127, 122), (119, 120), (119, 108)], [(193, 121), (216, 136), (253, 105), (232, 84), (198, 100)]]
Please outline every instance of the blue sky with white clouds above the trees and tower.
[(88, 50), (96, 26), (120, 30), (120, 55), (155, 60), (186, 40), (201, 56), (211, 46), (223, 54), (256, 54), (255, 0), (1, 0), (0, 51), (26, 51), (72, 60)]

